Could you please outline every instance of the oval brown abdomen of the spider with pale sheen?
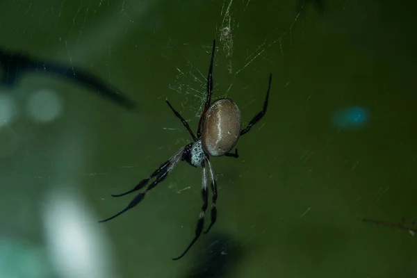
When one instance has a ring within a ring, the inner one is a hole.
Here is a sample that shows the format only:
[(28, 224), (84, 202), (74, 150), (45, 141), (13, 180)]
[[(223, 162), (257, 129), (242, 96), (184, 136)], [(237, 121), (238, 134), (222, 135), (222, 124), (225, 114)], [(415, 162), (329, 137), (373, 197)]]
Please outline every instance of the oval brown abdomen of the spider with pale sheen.
[(242, 117), (231, 99), (218, 99), (208, 108), (202, 130), (202, 147), (211, 156), (222, 156), (236, 146)]

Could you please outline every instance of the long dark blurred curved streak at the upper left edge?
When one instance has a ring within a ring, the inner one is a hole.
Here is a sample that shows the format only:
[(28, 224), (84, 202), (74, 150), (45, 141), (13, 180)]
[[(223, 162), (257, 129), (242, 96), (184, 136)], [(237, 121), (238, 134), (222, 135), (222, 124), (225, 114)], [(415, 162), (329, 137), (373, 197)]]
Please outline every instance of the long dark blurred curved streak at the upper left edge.
[(95, 92), (99, 97), (104, 97), (124, 108), (136, 108), (136, 104), (124, 97), (118, 90), (111, 88), (110, 85), (101, 81), (97, 76), (78, 67), (38, 60), (23, 52), (8, 51), (2, 46), (0, 46), (0, 67), (3, 70), (3, 76), (0, 80), (1, 85), (9, 88), (17, 85), (24, 74), (45, 74), (83, 85), (90, 91)]

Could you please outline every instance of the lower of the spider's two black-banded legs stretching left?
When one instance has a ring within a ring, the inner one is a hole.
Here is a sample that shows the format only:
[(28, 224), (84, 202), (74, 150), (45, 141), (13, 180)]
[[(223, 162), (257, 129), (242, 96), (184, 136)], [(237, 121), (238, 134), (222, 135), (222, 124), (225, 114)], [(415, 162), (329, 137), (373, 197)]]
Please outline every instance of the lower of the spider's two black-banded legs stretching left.
[[(122, 213), (125, 213), (126, 211), (129, 211), (129, 209), (134, 208), (135, 206), (137, 206), (142, 201), (142, 199), (145, 197), (146, 193), (149, 192), (149, 190), (151, 190), (158, 183), (160, 183), (161, 181), (163, 181), (164, 179), (167, 178), (168, 174), (174, 169), (174, 167), (179, 163), (179, 161), (181, 161), (181, 158), (183, 157), (184, 152), (186, 152), (187, 147), (188, 147), (188, 145), (186, 147), (182, 147), (181, 149), (179, 149), (179, 151), (176, 154), (171, 156), (170, 160), (167, 161), (168, 163), (163, 163), (163, 165), (161, 165), (161, 167), (163, 166), (163, 170), (158, 172), (158, 174), (155, 174), (156, 179), (154, 180), (154, 182), (149, 184), (149, 186), (147, 186), (147, 188), (145, 190), (143, 190), (141, 193), (136, 195), (136, 197), (134, 197), (133, 200), (131, 200), (131, 202), (126, 206), (126, 208), (124, 208), (122, 211), (120, 211), (119, 213), (116, 213), (115, 215), (113, 215), (109, 218), (106, 218), (104, 220), (100, 220), (99, 222), (106, 222), (108, 220), (112, 220), (113, 218), (117, 218), (117, 216), (119, 216)], [(161, 167), (160, 167), (160, 169), (161, 169)], [(156, 170), (156, 171), (158, 171), (158, 170)]]

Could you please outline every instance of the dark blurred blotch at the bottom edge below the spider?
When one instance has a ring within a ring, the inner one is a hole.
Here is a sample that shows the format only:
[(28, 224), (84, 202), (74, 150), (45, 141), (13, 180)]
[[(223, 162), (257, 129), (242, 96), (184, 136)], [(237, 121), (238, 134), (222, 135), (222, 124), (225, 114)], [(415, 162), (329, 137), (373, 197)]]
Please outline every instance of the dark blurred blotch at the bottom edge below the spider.
[(194, 257), (188, 273), (181, 278), (228, 277), (243, 255), (241, 243), (224, 234), (213, 234), (206, 240), (202, 252)]

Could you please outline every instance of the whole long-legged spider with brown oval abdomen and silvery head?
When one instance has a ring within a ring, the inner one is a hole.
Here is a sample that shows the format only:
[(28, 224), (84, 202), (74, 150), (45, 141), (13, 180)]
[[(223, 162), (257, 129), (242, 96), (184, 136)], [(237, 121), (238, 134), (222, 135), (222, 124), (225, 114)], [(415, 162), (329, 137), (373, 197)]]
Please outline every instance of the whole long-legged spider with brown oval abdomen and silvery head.
[[(210, 175), (211, 179), (211, 190), (213, 191), (213, 197), (211, 202), (211, 223), (208, 226), (208, 229), (204, 231), (204, 234), (207, 234), (208, 231), (213, 227), (215, 220), (217, 218), (217, 208), (216, 208), (216, 201), (218, 198), (217, 193), (217, 186), (215, 183), (215, 177), (213, 172), (213, 167), (211, 166), (210, 156), (231, 156), (238, 158), (238, 150), (236, 149), (234, 153), (230, 153), (231, 149), (233, 149), (238, 142), (238, 138), (243, 136), (243, 134), (250, 131), (252, 126), (259, 122), (263, 115), (266, 113), (266, 108), (268, 106), (268, 97), (270, 92), (270, 86), (272, 81), (272, 74), (269, 77), (269, 84), (268, 90), (266, 92), (265, 101), (263, 103), (263, 110), (256, 114), (252, 120), (250, 120), (249, 124), (247, 124), (245, 129), (241, 129), (241, 116), (238, 106), (232, 101), (231, 99), (218, 99), (211, 104), (211, 95), (213, 95), (213, 59), (214, 59), (214, 52), (215, 52), (215, 40), (213, 40), (213, 50), (211, 53), (211, 63), (208, 69), (208, 77), (207, 77), (207, 98), (206, 104), (204, 106), (204, 110), (202, 112), (201, 117), (199, 118), (198, 129), (197, 129), (197, 136), (194, 135), (193, 131), (190, 129), (188, 122), (184, 120), (184, 118), (172, 107), (169, 101), (166, 100), (168, 106), (170, 106), (172, 112), (174, 112), (175, 116), (181, 120), (183, 126), (186, 127), (190, 136), (193, 138), (194, 142), (190, 142), (185, 147), (179, 149), (179, 151), (170, 157), (167, 161), (162, 163), (158, 169), (155, 170), (152, 174), (149, 175), (146, 179), (142, 179), (135, 186), (135, 188), (119, 194), (119, 195), (112, 195), (113, 197), (120, 197), (127, 195), (129, 193), (133, 193), (136, 190), (140, 190), (144, 188), (150, 179), (154, 179), (152, 183), (142, 190), (141, 193), (136, 195), (133, 200), (119, 213), (107, 218), (105, 220), (101, 220), (99, 222), (106, 222), (108, 220), (112, 220), (117, 216), (125, 213), (129, 209), (137, 206), (142, 199), (145, 197), (146, 193), (149, 192), (152, 188), (154, 188), (158, 183), (165, 180), (168, 174), (174, 170), (174, 167), (180, 161), (186, 161), (193, 167), (202, 166), (203, 170), (203, 179), (202, 179), (202, 197), (203, 197), (203, 206), (202, 210), (199, 214), (199, 219), (197, 222), (197, 227), (195, 229), (195, 237), (188, 245), (186, 250), (176, 258), (172, 260), (181, 259), (193, 244), (197, 241), (199, 236), (202, 234), (204, 228), (204, 215), (206, 213), (206, 208), (208, 206), (208, 189), (207, 189), (207, 172)], [(208, 171), (206, 169), (206, 165), (208, 165)]]

